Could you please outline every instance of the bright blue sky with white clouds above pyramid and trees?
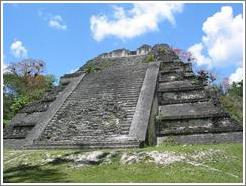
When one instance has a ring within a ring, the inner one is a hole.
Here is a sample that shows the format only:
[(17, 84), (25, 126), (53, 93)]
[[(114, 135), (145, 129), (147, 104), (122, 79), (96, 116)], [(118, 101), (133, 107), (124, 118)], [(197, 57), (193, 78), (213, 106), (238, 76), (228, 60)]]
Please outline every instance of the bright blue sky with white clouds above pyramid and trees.
[[(240, 16), (241, 14), (241, 16)], [(191, 51), (218, 79), (243, 76), (243, 6), (206, 4), (4, 4), (4, 65), (25, 57), (59, 78), (117, 48), (167, 43)]]

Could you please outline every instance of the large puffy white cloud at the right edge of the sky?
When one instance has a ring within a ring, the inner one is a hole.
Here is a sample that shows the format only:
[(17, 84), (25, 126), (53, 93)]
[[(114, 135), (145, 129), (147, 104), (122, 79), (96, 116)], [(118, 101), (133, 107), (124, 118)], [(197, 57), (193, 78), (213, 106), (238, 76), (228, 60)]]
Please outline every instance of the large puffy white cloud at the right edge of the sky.
[(242, 14), (233, 16), (232, 8), (223, 6), (219, 12), (207, 18), (202, 30), (204, 36), (201, 42), (188, 49), (198, 59), (198, 65), (226, 67), (242, 64), (244, 42)]

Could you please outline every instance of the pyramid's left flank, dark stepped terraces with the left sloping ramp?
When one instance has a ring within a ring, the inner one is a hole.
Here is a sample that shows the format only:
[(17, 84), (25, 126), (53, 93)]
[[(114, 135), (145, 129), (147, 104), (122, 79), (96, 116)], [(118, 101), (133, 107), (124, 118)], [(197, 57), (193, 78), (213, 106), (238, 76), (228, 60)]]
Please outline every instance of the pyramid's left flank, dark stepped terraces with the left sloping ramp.
[(66, 79), (65, 84), (61, 82), (58, 87), (48, 92), (40, 101), (27, 105), (17, 113), (10, 125), (4, 130), (6, 146), (24, 148), (32, 145), (33, 140), (40, 135), (50, 118), (82, 78), (81, 72), (71, 77), (61, 78), (61, 80)]

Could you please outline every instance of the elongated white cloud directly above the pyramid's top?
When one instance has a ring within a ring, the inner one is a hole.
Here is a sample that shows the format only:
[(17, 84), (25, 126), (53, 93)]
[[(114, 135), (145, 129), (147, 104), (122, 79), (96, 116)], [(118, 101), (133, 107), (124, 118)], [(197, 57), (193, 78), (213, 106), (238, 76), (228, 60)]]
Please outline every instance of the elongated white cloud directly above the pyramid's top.
[(146, 32), (158, 31), (158, 24), (164, 20), (175, 24), (174, 14), (182, 10), (181, 3), (136, 3), (130, 10), (114, 6), (112, 19), (106, 15), (93, 15), (90, 18), (90, 28), (97, 41), (108, 36), (129, 39)]

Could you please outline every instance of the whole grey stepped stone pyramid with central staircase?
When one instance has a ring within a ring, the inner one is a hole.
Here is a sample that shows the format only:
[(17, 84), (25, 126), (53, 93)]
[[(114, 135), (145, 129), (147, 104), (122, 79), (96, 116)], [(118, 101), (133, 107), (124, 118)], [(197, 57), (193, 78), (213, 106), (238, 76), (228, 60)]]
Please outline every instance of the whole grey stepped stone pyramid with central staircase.
[(65, 74), (58, 87), (17, 113), (3, 134), (4, 146), (12, 148), (126, 148), (242, 142), (243, 127), (190, 63), (157, 44), (102, 54)]

